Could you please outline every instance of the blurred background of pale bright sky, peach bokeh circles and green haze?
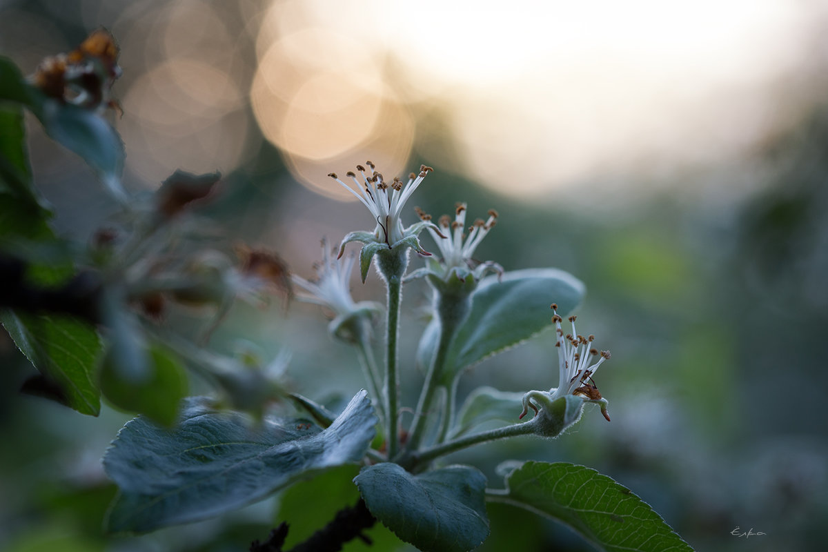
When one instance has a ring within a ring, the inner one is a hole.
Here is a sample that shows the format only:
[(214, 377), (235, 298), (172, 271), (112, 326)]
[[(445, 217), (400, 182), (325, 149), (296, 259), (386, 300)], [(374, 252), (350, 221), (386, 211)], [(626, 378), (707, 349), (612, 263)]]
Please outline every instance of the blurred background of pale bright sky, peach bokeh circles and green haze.
[[(510, 458), (597, 468), (697, 550), (824, 550), (828, 4), (0, 0), (0, 54), (31, 73), (100, 25), (122, 49), (113, 122), (132, 190), (177, 168), (221, 170), (210, 216), (310, 276), (320, 238), (373, 228), (328, 172), (370, 159), (407, 175), (426, 163), (436, 171), (412, 206), (498, 209), (481, 260), (585, 281), (580, 330), (613, 353), (596, 378), (613, 421), (590, 411), (563, 439), (489, 444), (457, 461), (493, 486)], [(84, 240), (114, 206), (30, 126), (55, 225)], [(358, 298), (382, 293), (373, 274), (354, 278)], [(412, 285), (406, 300), (412, 405), (426, 290)], [(287, 377), (307, 396), (361, 386), (318, 310), (239, 307), (213, 346), (239, 336), (291, 353)], [(280, 502), (297, 527), (316, 521), (309, 489), (195, 526), (102, 536), (114, 490), (99, 458), (127, 415), (90, 419), (18, 395), (33, 369), (7, 338), (0, 348), (0, 549), (245, 550)], [(548, 388), (555, 366), (547, 334), (475, 367), (460, 393)], [(480, 550), (592, 550), (527, 512), (490, 515)], [(766, 535), (737, 538), (737, 526)], [(370, 550), (395, 550), (374, 533)]]

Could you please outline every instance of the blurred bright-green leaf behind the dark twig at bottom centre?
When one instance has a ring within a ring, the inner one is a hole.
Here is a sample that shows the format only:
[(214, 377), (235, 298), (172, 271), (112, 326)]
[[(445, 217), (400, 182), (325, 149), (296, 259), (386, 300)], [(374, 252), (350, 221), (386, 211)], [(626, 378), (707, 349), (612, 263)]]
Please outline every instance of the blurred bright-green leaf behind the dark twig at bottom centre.
[[(320, 527), (334, 519), (342, 508), (356, 504), (359, 500), (359, 491), (354, 485), (357, 473), (358, 466), (340, 466), (307, 481), (297, 482), (284, 492), (273, 525), (286, 521), (290, 526), (285, 550), (291, 550), (307, 540)], [(381, 523), (374, 524), (364, 534), (372, 540), (371, 545), (354, 539), (345, 545), (345, 552), (390, 552), (404, 546)]]

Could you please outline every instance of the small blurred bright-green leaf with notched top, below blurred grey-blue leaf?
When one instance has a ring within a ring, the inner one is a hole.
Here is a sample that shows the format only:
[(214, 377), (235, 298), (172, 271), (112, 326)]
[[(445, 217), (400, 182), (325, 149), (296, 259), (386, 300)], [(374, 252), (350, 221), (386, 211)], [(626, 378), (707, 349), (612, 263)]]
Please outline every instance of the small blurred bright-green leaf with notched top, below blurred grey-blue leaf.
[(171, 351), (157, 343), (151, 344), (147, 353), (148, 377), (142, 382), (130, 382), (122, 377), (108, 351), (101, 364), (101, 391), (118, 408), (147, 415), (162, 425), (173, 425), (181, 400), (187, 395), (184, 367)]

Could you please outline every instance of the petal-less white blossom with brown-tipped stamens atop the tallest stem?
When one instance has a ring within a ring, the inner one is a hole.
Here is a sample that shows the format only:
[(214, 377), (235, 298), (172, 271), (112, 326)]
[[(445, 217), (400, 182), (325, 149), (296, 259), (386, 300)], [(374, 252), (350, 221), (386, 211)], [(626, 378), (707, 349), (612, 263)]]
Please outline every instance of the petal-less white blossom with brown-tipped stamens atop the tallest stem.
[(420, 166), (420, 174), (415, 175), (411, 173), (408, 175), (408, 182), (402, 183), (402, 180), (396, 176), (389, 184), (383, 178), (381, 173), (378, 173), (376, 166), (371, 161), (365, 161), (370, 170), (370, 175), (365, 174), (365, 167), (358, 165), (357, 170), (362, 176), (362, 182), (357, 178), (356, 173), (348, 171), (346, 174), (351, 180), (354, 180), (354, 187), (345, 184), (336, 173), (330, 173), (328, 176), (339, 182), (345, 190), (362, 201), (365, 207), (371, 211), (373, 220), (377, 226), (373, 229), (374, 238), (378, 241), (393, 247), (394, 244), (402, 240), (406, 236), (406, 229), (402, 226), (402, 219), (400, 214), (406, 201), (414, 193), (414, 190), (425, 180), (426, 175), (434, 169), (430, 166)]

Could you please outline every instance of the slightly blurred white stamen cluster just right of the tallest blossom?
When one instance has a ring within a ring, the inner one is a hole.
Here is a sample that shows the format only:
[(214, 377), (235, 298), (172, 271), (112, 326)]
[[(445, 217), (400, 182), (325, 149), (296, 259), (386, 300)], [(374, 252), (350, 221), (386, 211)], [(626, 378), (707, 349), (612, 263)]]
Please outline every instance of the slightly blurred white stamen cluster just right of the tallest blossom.
[[(424, 222), (431, 221), (431, 215), (423, 212), (422, 209), (416, 207), (416, 214)], [(455, 271), (457, 276), (462, 280), (469, 273), (474, 276), (475, 280), (479, 280), (485, 271), (496, 271), (498, 274), (503, 274), (503, 267), (496, 262), (487, 261), (479, 262), (474, 260), (474, 250), (486, 237), (486, 234), (494, 228), (498, 222), (498, 212), (494, 209), (489, 209), (489, 219), (483, 220), (478, 218), (469, 226), (469, 235), (464, 234), (466, 218), (466, 204), (459, 203), (455, 206), (455, 220), (452, 221), (448, 215), (444, 214), (440, 217), (438, 224), (444, 231), (443, 233), (437, 228), (428, 228), (431, 233), (431, 238), (440, 248), (442, 259), (440, 260), (440, 276), (444, 278), (452, 271)], [(436, 266), (435, 266), (436, 268)]]

